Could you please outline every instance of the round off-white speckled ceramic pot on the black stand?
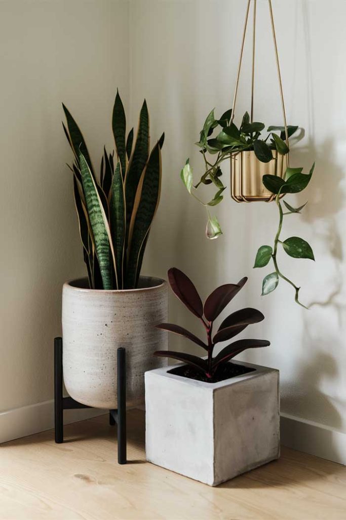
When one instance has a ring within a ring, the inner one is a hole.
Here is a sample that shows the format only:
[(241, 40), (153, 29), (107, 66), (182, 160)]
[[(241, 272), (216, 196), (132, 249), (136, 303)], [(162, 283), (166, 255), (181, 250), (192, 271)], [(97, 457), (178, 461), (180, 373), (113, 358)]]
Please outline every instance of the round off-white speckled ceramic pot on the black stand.
[(95, 408), (117, 408), (117, 348), (126, 348), (127, 406), (144, 402), (144, 372), (166, 365), (153, 356), (168, 348), (168, 287), (141, 276), (139, 288), (88, 289), (87, 279), (63, 286), (63, 373), (67, 392)]

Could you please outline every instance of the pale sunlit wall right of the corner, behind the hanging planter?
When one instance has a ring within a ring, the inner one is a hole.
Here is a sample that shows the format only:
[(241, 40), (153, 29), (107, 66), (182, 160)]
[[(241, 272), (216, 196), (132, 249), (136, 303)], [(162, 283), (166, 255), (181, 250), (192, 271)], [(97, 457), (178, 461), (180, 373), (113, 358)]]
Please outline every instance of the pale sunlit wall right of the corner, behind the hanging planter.
[[(268, 3), (257, 4), (255, 120), (282, 124)], [(311, 310), (298, 307), (292, 289), (281, 282), (274, 293), (260, 296), (261, 279), (270, 270), (252, 266), (257, 248), (273, 239), (278, 217), (274, 204), (237, 204), (227, 190), (226, 200), (215, 208), (224, 236), (209, 242), (203, 236), (204, 209), (179, 179), (187, 157), (196, 178), (201, 173), (193, 143), (206, 114), (216, 107), (220, 115), (231, 105), (245, 7), (244, 0), (132, 2), (133, 99), (138, 102), (146, 93), (155, 124), (166, 133), (163, 196), (147, 265), (161, 275), (171, 265), (185, 269), (203, 295), (216, 284), (249, 276), (232, 308), (261, 309), (265, 322), (243, 336), (256, 334), (271, 346), (244, 358), (280, 369), (283, 413), (331, 432), (346, 432), (345, 2), (273, 0), (288, 121), (306, 129), (291, 162), (307, 169), (316, 161), (311, 187), (290, 197), (293, 204), (309, 204), (301, 216), (287, 217), (282, 235), (308, 240), (316, 262), (284, 253), (280, 262), (302, 286), (301, 300)], [(149, 24), (155, 28), (150, 33)], [(250, 109), (250, 78), (247, 44), (238, 121)], [(229, 186), (226, 165), (224, 172)], [(185, 326), (195, 323), (177, 301), (172, 301), (171, 319)], [(188, 343), (177, 340), (171, 346), (187, 348)]]

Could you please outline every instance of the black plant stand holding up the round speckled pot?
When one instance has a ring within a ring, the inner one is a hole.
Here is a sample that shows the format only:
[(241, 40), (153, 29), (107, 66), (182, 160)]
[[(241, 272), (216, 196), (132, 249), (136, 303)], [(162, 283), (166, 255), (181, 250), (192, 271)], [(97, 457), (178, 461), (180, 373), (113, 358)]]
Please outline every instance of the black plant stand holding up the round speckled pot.
[[(109, 424), (118, 425), (118, 464), (126, 464), (126, 350), (117, 349), (117, 398), (118, 409), (109, 410)], [(60, 444), (64, 441), (64, 410), (77, 408), (92, 408), (82, 405), (72, 397), (63, 397), (62, 371), (62, 337), (54, 339), (54, 413), (55, 413), (55, 440)]]

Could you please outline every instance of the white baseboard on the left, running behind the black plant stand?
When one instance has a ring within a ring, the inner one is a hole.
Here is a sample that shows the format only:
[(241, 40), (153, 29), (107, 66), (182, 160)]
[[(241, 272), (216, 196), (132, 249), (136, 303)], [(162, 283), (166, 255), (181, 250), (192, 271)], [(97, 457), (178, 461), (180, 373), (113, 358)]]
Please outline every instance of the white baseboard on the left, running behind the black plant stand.
[[(83, 421), (107, 413), (96, 408), (64, 410), (64, 424)], [(14, 408), (0, 413), (0, 443), (26, 437), (54, 427), (54, 401)]]

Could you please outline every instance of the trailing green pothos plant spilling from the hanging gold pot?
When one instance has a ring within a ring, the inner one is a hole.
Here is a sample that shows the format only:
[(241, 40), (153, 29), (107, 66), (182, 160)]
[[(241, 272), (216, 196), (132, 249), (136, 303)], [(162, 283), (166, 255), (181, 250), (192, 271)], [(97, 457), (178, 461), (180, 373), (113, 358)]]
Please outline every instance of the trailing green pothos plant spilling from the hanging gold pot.
[[(250, 122), (250, 116), (245, 112), (242, 123), (238, 128), (231, 119), (232, 110), (227, 110), (220, 117), (215, 119), (214, 110), (212, 110), (203, 125), (200, 132), (200, 139), (196, 145), (200, 148), (204, 160), (204, 172), (196, 185), (193, 185), (192, 167), (189, 159), (187, 159), (181, 178), (188, 192), (202, 204), (207, 212), (206, 237), (215, 239), (222, 235), (222, 230), (218, 219), (215, 215), (210, 214), (210, 207), (219, 204), (224, 196), (223, 192), (226, 188), (221, 177), (223, 175), (220, 164), (234, 157), (242, 151), (253, 150), (257, 159), (263, 163), (268, 163), (273, 159), (273, 150), (284, 155), (288, 153), (289, 147), (283, 126), (269, 126), (267, 135), (262, 136), (265, 129), (264, 123)], [(221, 127), (221, 130), (218, 128)], [(218, 128), (218, 129), (217, 129)], [(217, 134), (213, 137), (213, 133), (217, 129)], [(287, 126), (288, 138), (292, 136), (298, 129), (298, 126)], [(275, 132), (279, 132), (280, 136)], [(216, 155), (215, 160), (211, 159), (211, 155)], [(292, 213), (300, 213), (306, 204), (298, 208), (294, 208), (286, 201), (283, 201), (287, 212), (283, 211), (281, 199), (287, 193), (298, 193), (305, 189), (310, 182), (314, 165), (309, 174), (302, 173), (303, 168), (287, 168), (284, 177), (276, 175), (264, 175), (262, 178), (264, 186), (271, 193), (275, 194), (275, 202), (279, 210), (279, 227), (274, 238), (273, 247), (270, 245), (262, 245), (257, 251), (254, 267), (265, 267), (272, 260), (274, 271), (267, 275), (262, 282), (262, 295), (269, 294), (278, 287), (280, 278), (292, 285), (295, 290), (295, 301), (299, 305), (302, 303), (298, 299), (299, 287), (292, 280), (282, 274), (277, 261), (277, 253), (279, 244), (282, 245), (284, 251), (293, 258), (309, 258), (314, 260), (311, 246), (299, 237), (289, 237), (284, 241), (280, 240), (283, 217)], [(197, 188), (201, 185), (213, 184), (216, 187), (216, 193), (209, 202), (203, 202), (196, 194)], [(305, 305), (302, 305), (305, 307)]]

